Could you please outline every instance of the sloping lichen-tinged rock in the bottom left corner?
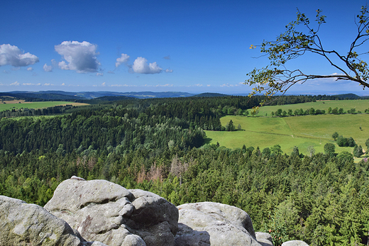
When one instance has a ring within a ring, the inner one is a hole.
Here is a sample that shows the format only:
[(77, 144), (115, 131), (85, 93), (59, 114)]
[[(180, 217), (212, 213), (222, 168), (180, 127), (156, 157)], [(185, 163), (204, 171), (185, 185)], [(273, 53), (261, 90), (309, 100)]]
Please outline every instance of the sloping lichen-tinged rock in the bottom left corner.
[(43, 207), (0, 196), (0, 245), (79, 246), (84, 241)]

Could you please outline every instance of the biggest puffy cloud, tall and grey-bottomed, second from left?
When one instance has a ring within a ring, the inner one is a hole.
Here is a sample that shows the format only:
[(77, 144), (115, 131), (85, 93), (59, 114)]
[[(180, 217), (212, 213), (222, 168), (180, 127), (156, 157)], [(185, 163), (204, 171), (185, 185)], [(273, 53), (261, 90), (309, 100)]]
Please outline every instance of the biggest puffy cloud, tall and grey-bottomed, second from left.
[(97, 72), (100, 62), (97, 45), (83, 41), (64, 41), (60, 45), (55, 45), (55, 51), (62, 55), (65, 61), (59, 62), (59, 67), (64, 70), (75, 70), (79, 73)]

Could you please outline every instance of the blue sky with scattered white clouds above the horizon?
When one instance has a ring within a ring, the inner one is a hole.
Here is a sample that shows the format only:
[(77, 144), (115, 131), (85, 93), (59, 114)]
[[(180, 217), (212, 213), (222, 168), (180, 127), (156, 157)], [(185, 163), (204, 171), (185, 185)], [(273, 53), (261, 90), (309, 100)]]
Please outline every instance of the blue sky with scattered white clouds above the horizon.
[[(1, 91), (187, 91), (247, 94), (246, 73), (268, 64), (258, 49), (322, 9), (326, 47), (346, 52), (365, 1), (3, 1)], [(367, 46), (368, 47), (368, 46)], [(365, 58), (366, 59), (366, 58)], [(307, 55), (292, 67), (336, 71)], [(356, 83), (319, 81), (290, 94), (369, 95)]]

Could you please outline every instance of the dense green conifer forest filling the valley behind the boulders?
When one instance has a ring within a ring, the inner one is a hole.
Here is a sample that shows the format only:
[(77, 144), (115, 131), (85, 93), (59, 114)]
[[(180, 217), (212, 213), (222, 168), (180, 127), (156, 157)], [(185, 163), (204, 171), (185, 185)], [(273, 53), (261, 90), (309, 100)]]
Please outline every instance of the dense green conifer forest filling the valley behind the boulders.
[[(324, 96), (282, 96), (274, 105)], [(275, 245), (367, 245), (369, 163), (349, 152), (302, 155), (279, 145), (205, 143), (220, 118), (257, 106), (243, 96), (92, 99), (91, 106), (0, 114), (0, 194), (45, 205), (72, 175), (144, 189), (175, 205), (237, 206)], [(341, 133), (340, 133), (341, 134)], [(369, 137), (369, 136), (368, 136)]]

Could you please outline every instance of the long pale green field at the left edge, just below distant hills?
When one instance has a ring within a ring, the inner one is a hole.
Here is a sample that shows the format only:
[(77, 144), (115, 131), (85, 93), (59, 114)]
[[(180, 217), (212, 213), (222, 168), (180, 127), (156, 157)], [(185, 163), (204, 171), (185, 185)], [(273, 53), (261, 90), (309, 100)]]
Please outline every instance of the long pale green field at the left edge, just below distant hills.
[(24, 100), (13, 100), (13, 101), (3, 101), (0, 102), (0, 111), (11, 110), (13, 108), (49, 108), (53, 106), (62, 106), (62, 105), (73, 105), (73, 106), (84, 106), (89, 104), (82, 103), (72, 103), (69, 101), (31, 101), (26, 102)]

